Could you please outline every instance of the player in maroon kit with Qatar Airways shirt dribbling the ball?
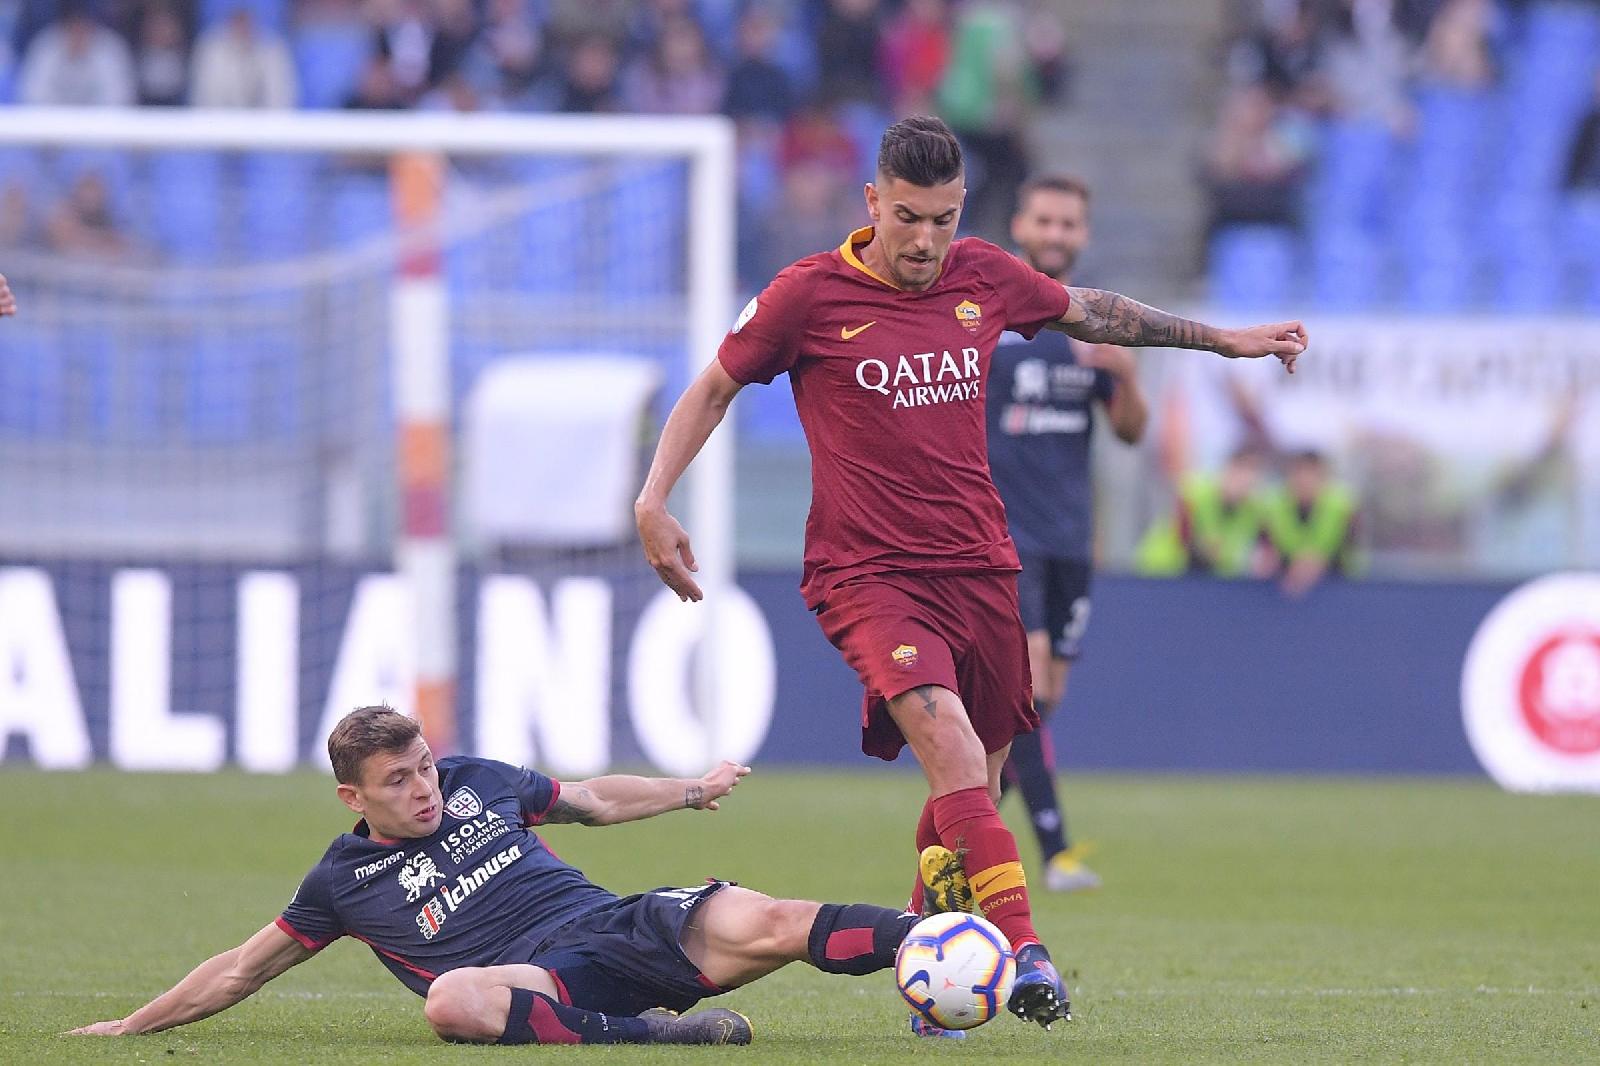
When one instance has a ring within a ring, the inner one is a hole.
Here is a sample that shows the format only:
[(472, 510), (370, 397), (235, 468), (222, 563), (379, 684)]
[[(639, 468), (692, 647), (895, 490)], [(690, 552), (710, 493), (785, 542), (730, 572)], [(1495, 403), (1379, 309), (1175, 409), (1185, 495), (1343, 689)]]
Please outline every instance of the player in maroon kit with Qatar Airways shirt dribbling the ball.
[(890, 126), (867, 184), (872, 226), (784, 269), (746, 304), (683, 392), (634, 504), (645, 557), (701, 599), (667, 495), (728, 403), (787, 371), (811, 448), (800, 591), (861, 675), (862, 751), (910, 744), (930, 799), (917, 848), (960, 856), (981, 912), (1018, 951), (1008, 1007), (1069, 1018), (1034, 932), (1016, 842), (995, 812), (1011, 738), (1038, 725), (1018, 613), (1018, 557), (989, 477), (984, 378), (1000, 333), (1194, 347), (1294, 368), (1299, 322), (1222, 330), (1094, 288), (1069, 288), (978, 238), (954, 240), (962, 152), (938, 118)]

